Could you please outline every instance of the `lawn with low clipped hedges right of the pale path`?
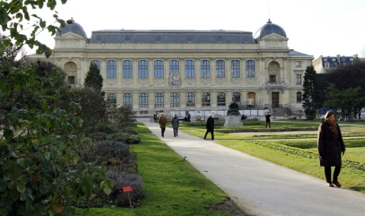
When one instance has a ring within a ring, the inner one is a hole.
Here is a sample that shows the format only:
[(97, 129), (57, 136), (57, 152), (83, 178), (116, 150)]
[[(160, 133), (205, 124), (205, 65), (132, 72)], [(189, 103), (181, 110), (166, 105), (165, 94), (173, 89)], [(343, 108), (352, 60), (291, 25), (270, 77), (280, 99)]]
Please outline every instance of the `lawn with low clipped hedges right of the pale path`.
[[(216, 143), (324, 179), (323, 168), (319, 167), (318, 162), (315, 139), (317, 135), (312, 134), (318, 128), (319, 120), (277, 121), (272, 122), (272, 128), (264, 128), (265, 123), (262, 120), (243, 123), (244, 126), (233, 128), (235, 133), (226, 133), (230, 128), (224, 128), (224, 123), (216, 123)], [(308, 134), (305, 134), (303, 128), (309, 130)], [(285, 133), (284, 131), (288, 129), (291, 131)], [(341, 125), (344, 137), (365, 136), (364, 129), (364, 124), (361, 123), (359, 126), (354, 126), (352, 123)], [(202, 137), (205, 133), (205, 124), (187, 123), (180, 130)], [(297, 134), (295, 132), (293, 134), (292, 131), (296, 130)], [(312, 139), (300, 140), (302, 138)], [(346, 139), (344, 142), (346, 153), (343, 156), (344, 165), (339, 180), (345, 187), (365, 193), (365, 140), (354, 138)]]

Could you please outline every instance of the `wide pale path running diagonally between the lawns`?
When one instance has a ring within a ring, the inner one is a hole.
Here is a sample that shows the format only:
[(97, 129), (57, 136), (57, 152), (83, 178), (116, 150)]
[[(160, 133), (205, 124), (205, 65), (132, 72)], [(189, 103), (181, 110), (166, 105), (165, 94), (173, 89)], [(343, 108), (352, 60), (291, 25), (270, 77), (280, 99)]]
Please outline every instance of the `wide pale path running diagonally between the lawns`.
[(250, 215), (365, 215), (365, 195), (360, 192), (328, 187), (324, 180), (226, 148), (213, 140), (181, 131), (174, 138), (172, 128), (166, 128), (162, 138), (158, 123), (143, 123)]

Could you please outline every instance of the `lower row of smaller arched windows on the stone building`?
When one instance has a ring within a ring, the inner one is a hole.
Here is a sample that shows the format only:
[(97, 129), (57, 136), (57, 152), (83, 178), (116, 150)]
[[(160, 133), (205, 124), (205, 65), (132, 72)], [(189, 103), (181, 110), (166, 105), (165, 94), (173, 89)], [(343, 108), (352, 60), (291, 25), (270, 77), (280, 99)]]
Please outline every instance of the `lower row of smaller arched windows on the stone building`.
[[(186, 106), (195, 106), (195, 93), (186, 93)], [(108, 93), (108, 103), (116, 103), (117, 95), (115, 93)], [(140, 93), (138, 100), (138, 106), (140, 108), (148, 108), (148, 93)], [(204, 92), (201, 96), (202, 106), (210, 106), (210, 93)], [(155, 93), (155, 107), (165, 107), (165, 95), (164, 93)], [(237, 103), (241, 102), (241, 93), (234, 92), (232, 94), (232, 101)], [(297, 92), (297, 102), (302, 102), (302, 92)], [(123, 94), (123, 106), (133, 106), (133, 95), (131, 93)], [(170, 106), (180, 107), (180, 93), (170, 93)], [(226, 106), (226, 93), (217, 93), (217, 106)]]

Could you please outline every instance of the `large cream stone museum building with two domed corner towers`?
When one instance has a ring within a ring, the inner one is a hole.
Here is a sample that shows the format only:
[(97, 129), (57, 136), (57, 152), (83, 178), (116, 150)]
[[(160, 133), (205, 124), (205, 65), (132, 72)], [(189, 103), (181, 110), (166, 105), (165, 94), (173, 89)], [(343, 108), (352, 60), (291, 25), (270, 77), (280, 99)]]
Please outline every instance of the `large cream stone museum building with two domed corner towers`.
[[(91, 63), (106, 99), (137, 116), (180, 116), (242, 110), (302, 109), (303, 77), (313, 56), (289, 48), (282, 27), (267, 21), (255, 35), (228, 30), (96, 30), (86, 36), (73, 19), (56, 34), (50, 57), (83, 87)], [(31, 58), (40, 58), (33, 55)]]

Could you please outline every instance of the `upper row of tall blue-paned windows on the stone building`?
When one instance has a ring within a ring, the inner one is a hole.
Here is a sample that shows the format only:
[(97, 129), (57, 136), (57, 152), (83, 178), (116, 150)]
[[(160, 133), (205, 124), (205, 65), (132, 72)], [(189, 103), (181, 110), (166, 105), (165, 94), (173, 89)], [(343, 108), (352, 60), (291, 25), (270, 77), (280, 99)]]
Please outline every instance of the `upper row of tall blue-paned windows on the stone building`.
[[(99, 70), (101, 68), (100, 61), (94, 60), (91, 63), (95, 63)], [(164, 78), (165, 69), (164, 61), (156, 60), (153, 62), (153, 75), (155, 78)], [(180, 73), (180, 61), (172, 60), (169, 63), (170, 73), (176, 71)], [(202, 60), (200, 61), (200, 77), (210, 78), (210, 61)], [(217, 60), (215, 61), (215, 75), (216, 78), (226, 77), (225, 61)], [(185, 77), (195, 78), (195, 61), (187, 60), (185, 61)], [(230, 68), (231, 78), (241, 77), (241, 66), (240, 61), (232, 60)], [(246, 61), (246, 77), (255, 78), (255, 61)], [(116, 61), (110, 60), (106, 61), (106, 78), (117, 78), (117, 63)], [(130, 60), (123, 61), (123, 78), (133, 78), (133, 62)], [(138, 78), (148, 78), (148, 61), (141, 60), (138, 61)]]

